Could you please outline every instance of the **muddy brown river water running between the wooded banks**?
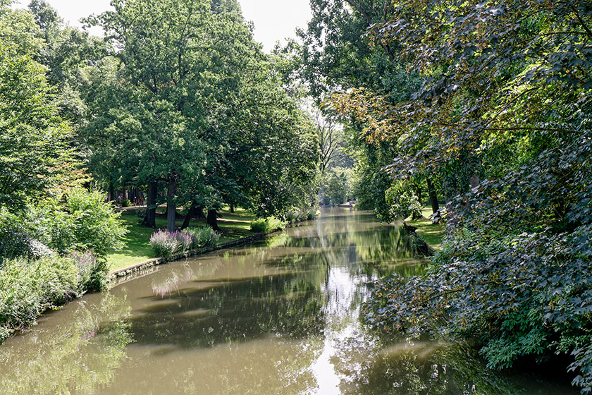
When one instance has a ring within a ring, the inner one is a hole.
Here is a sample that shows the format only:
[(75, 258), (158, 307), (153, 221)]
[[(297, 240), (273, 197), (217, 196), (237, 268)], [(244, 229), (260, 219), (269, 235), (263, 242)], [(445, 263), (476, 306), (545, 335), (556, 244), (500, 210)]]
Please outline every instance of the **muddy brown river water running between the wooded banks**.
[(326, 210), (49, 312), (0, 346), (0, 394), (578, 393), (438, 342), (378, 341), (360, 322), (372, 281), (424, 263), (400, 227)]

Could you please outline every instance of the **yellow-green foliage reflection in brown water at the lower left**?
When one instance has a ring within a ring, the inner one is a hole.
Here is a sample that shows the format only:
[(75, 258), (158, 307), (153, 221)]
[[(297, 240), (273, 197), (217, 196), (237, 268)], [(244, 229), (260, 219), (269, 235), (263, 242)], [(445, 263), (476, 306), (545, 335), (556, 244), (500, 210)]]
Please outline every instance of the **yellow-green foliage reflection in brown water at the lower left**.
[(85, 301), (70, 303), (59, 322), (0, 348), (0, 394), (92, 394), (113, 383), (132, 342), (130, 305), (111, 293), (90, 297), (99, 299), (92, 309)]

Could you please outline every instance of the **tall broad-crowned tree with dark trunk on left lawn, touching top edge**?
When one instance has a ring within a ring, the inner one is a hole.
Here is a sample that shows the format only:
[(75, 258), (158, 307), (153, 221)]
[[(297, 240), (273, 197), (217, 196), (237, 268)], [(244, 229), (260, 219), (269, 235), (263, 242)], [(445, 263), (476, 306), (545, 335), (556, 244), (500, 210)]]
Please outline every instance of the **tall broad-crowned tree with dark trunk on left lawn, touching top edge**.
[[(121, 45), (114, 54), (146, 111), (135, 139), (140, 160), (137, 174), (150, 188), (166, 181), (168, 228), (173, 230), (179, 183), (195, 181), (205, 167), (202, 141), (207, 117), (220, 92), (218, 82), (228, 83), (225, 68), (232, 66), (223, 63), (228, 58), (223, 54), (231, 43), (249, 37), (236, 35), (240, 23), (232, 23), (237, 16), (228, 2), (214, 6), (209, 1), (150, 3), (116, 1), (115, 11), (101, 14), (92, 23), (102, 25), (109, 40)], [(219, 13), (216, 18), (214, 12)], [(245, 26), (242, 29), (247, 32)], [(234, 55), (242, 59), (240, 51)]]

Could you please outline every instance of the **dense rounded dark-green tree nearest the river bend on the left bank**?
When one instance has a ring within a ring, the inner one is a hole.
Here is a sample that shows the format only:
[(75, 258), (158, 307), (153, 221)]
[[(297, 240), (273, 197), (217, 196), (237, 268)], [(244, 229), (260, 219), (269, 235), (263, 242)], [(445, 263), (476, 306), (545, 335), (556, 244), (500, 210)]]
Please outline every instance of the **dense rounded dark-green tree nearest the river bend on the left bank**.
[(246, 75), (240, 99), (227, 158), (247, 204), (261, 216), (309, 208), (316, 200), (318, 142), (273, 61)]

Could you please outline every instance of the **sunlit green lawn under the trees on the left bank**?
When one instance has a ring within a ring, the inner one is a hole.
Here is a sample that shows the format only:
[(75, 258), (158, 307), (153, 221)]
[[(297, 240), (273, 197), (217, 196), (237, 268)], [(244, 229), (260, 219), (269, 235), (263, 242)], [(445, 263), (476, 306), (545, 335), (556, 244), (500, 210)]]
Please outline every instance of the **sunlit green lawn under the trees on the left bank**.
[[(163, 211), (164, 209), (159, 209), (159, 212)], [(220, 214), (222, 215), (222, 217), (218, 219), (218, 226), (222, 229), (220, 243), (253, 234), (249, 225), (250, 222), (255, 219), (254, 214), (241, 208), (235, 209), (235, 212), (233, 213), (225, 208), (220, 211)], [(125, 242), (123, 250), (107, 256), (107, 262), (109, 263), (111, 272), (146, 262), (155, 257), (152, 253), (152, 248), (150, 248), (150, 245), (148, 244), (150, 236), (155, 230), (140, 226), (138, 220), (139, 218), (132, 209), (122, 212), (121, 221), (123, 221), (123, 224), (128, 227), (128, 234), (123, 238), (123, 241)], [(175, 222), (175, 225), (178, 227), (182, 224), (182, 219)], [(191, 221), (190, 226), (203, 226), (205, 224), (206, 221), (204, 219), (202, 221)], [(156, 218), (156, 227), (166, 229), (166, 219)]]

